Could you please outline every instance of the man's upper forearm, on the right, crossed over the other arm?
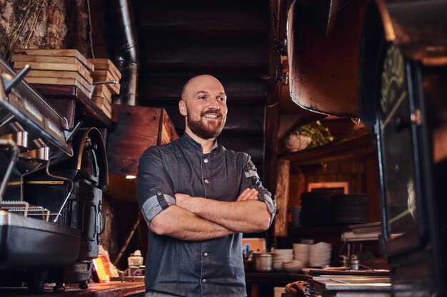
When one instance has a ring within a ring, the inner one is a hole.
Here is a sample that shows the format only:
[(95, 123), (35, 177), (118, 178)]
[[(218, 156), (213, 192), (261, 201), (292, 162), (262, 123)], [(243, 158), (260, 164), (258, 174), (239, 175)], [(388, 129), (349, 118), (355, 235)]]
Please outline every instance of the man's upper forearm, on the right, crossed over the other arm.
[(242, 233), (266, 230), (271, 218), (266, 204), (258, 200), (221, 202), (196, 197), (186, 200), (181, 207), (226, 229)]

